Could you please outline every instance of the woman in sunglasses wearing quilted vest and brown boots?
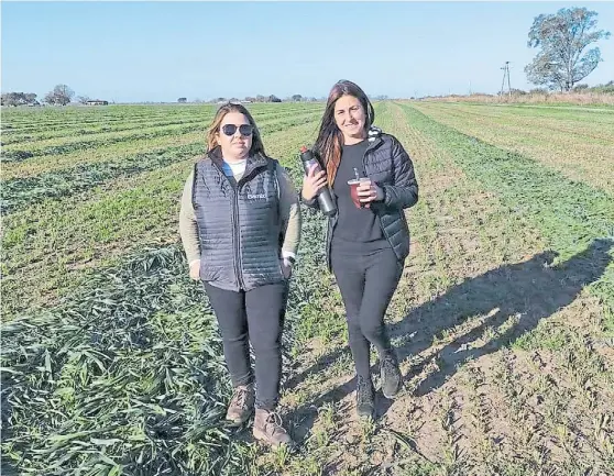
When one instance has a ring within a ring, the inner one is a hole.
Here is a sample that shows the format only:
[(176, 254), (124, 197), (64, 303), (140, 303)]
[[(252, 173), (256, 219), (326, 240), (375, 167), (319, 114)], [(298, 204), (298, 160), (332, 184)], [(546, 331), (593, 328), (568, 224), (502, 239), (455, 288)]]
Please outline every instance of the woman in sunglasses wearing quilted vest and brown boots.
[(284, 168), (266, 156), (243, 106), (222, 106), (207, 140), (208, 152), (185, 184), (179, 229), (189, 275), (204, 281), (221, 331), (234, 387), (226, 418), (240, 425), (255, 406), (254, 438), (287, 444), (276, 407), (287, 286), (300, 239), (298, 197)]

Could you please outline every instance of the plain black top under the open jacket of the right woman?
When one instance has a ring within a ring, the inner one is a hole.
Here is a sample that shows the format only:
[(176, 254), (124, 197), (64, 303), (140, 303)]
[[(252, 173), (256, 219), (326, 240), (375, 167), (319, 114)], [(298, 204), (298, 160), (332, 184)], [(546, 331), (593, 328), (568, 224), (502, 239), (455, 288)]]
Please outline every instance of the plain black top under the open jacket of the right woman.
[(341, 162), (332, 184), (339, 210), (332, 236), (336, 251), (365, 254), (390, 247), (382, 232), (380, 218), (370, 208), (357, 208), (350, 196), (348, 180), (355, 178), (354, 167), (359, 177), (364, 177), (362, 159), (368, 147), (369, 141), (364, 140), (358, 144), (344, 145), (341, 153)]

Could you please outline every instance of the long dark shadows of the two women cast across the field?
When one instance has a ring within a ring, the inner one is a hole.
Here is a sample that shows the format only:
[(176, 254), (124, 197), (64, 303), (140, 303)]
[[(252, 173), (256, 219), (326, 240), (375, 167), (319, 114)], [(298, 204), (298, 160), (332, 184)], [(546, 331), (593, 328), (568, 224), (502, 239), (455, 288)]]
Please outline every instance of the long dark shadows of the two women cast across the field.
[[(557, 266), (551, 266), (557, 256), (555, 252), (544, 252), (529, 261), (501, 266), (451, 287), (442, 296), (413, 309), (401, 322), (388, 326), (391, 337), (401, 342), (396, 352), (399, 362), (403, 362), (429, 348), (434, 335), (471, 318), (483, 317), (480, 325), (460, 335), (432, 357), (437, 359), (439, 369), (419, 384), (415, 395), (423, 396), (439, 388), (463, 362), (496, 352), (535, 329), (541, 319), (573, 302), (585, 286), (603, 275), (612, 259), (608, 252), (613, 244), (611, 240), (595, 240), (585, 251)], [(496, 332), (495, 337), (483, 346), (469, 348), (487, 328), (496, 331), (511, 317), (517, 318), (513, 325)], [(326, 367), (343, 352), (344, 348), (322, 356), (303, 374), (290, 378), (286, 388), (298, 385), (309, 374), (326, 372)], [(377, 369), (377, 364), (372, 367), (373, 372)], [(413, 368), (405, 380), (419, 370)], [(299, 440), (308, 433), (322, 403), (339, 400), (354, 388), (355, 378), (352, 378), (292, 411), (288, 418), (297, 427), (295, 438)], [(390, 402), (383, 402), (381, 394), (379, 399), (377, 416), (381, 417), (387, 411)]]

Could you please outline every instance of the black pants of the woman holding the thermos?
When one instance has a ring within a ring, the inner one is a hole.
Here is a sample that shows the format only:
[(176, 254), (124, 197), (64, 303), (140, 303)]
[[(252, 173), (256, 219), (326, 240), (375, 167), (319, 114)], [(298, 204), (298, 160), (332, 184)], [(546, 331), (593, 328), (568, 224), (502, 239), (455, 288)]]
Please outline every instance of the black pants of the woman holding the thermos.
[(370, 378), (370, 343), (380, 356), (391, 351), (384, 316), (401, 279), (403, 263), (392, 247), (370, 255), (347, 254), (333, 247), (331, 266), (346, 306), (357, 374)]

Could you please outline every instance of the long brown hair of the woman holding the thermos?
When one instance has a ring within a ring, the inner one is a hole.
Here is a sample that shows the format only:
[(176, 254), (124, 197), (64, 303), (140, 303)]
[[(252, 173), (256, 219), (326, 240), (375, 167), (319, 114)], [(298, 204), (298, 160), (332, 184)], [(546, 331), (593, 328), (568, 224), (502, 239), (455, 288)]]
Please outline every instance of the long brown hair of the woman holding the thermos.
[(371, 104), (371, 101), (360, 86), (347, 79), (341, 79), (335, 84), (328, 95), (328, 101), (320, 123), (320, 131), (314, 145), (314, 152), (324, 160), (328, 185), (330, 186), (332, 186), (335, 181), (335, 176), (337, 175), (337, 169), (341, 162), (341, 147), (343, 146), (343, 133), (335, 122), (335, 103), (342, 96), (353, 96), (362, 104), (366, 115), (364, 132), (369, 131), (369, 128), (371, 128), (371, 124), (373, 124), (375, 120), (373, 104)]

